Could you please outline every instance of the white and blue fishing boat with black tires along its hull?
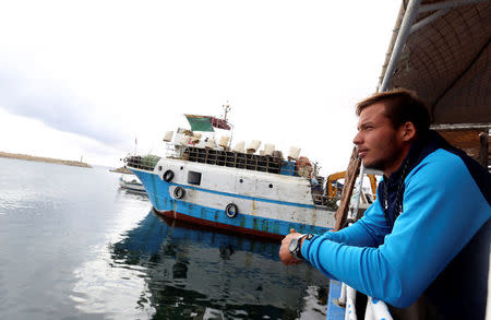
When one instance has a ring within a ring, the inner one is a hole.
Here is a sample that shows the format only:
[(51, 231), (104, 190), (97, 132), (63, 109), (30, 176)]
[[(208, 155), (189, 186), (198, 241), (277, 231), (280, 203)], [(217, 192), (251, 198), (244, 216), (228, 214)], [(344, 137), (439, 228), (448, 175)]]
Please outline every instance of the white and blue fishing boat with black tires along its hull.
[[(127, 167), (142, 181), (161, 215), (268, 238), (295, 228), (324, 233), (334, 211), (319, 166), (291, 147), (287, 157), (274, 145), (251, 141), (231, 147), (228, 135), (216, 143), (202, 132), (230, 130), (221, 118), (185, 115), (191, 130), (167, 132), (168, 154), (128, 156)], [(173, 139), (172, 139), (173, 137)]]

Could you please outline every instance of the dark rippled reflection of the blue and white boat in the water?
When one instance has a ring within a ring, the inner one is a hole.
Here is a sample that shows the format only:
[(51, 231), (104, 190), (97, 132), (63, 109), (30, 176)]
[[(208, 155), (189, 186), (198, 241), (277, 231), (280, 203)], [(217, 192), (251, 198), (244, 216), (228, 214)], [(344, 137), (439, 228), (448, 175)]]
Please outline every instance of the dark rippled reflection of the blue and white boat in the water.
[(308, 264), (278, 263), (277, 242), (176, 223), (149, 212), (110, 248), (115, 268), (145, 273), (156, 318), (325, 318), (324, 277)]

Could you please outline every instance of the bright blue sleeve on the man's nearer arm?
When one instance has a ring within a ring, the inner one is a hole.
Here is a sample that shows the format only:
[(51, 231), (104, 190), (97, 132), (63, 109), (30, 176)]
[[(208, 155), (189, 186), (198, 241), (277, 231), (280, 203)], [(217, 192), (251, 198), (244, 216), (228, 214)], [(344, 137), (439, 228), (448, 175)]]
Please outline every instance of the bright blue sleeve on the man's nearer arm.
[[(369, 213), (370, 222), (373, 215)], [(393, 306), (407, 307), (490, 215), (490, 205), (462, 159), (439, 150), (407, 176), (404, 211), (382, 245), (359, 247), (350, 240), (320, 236), (303, 241), (302, 256), (332, 278)]]

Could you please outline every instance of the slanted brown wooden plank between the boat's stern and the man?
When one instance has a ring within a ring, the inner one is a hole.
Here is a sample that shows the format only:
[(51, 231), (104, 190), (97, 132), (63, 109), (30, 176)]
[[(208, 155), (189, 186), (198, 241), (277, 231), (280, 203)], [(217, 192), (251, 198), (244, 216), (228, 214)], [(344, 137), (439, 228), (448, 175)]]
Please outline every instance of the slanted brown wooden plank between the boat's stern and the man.
[(348, 215), (349, 203), (351, 200), (352, 189), (355, 187), (355, 181), (360, 171), (361, 161), (358, 157), (358, 150), (355, 146), (351, 152), (351, 157), (349, 159), (348, 169), (345, 176), (345, 186), (343, 187), (343, 192), (340, 197), (339, 208), (334, 215), (336, 217), (336, 226), (334, 230), (339, 230), (346, 224), (346, 217)]

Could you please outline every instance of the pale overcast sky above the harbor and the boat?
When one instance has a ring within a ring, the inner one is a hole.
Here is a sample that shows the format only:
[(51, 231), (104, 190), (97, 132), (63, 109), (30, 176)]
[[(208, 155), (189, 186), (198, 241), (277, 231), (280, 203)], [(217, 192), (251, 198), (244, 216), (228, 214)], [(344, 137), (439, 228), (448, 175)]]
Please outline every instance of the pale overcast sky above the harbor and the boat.
[(3, 1), (0, 151), (121, 166), (183, 114), (346, 169), (400, 2)]

